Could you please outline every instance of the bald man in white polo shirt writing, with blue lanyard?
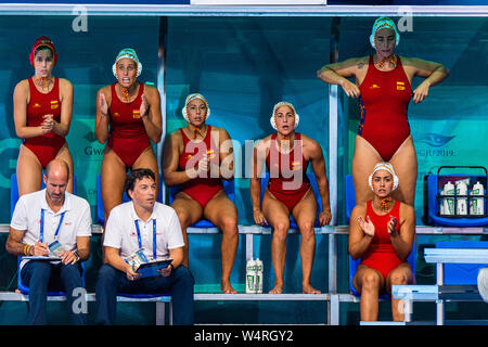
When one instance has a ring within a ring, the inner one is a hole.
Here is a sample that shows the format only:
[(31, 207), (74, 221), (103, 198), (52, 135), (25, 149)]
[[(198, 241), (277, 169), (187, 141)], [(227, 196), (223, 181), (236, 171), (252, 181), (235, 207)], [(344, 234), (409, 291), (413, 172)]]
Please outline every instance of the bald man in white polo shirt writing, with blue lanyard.
[[(69, 167), (53, 159), (46, 167), (46, 189), (22, 195), (15, 205), (5, 248), (16, 256), (48, 257), (49, 245), (57, 241), (61, 260), (27, 260), (21, 262), (22, 283), (29, 287), (29, 323), (46, 324), (49, 291), (66, 293), (73, 324), (86, 324), (87, 314), (75, 311), (74, 290), (84, 287), (80, 261), (90, 256), (90, 205), (66, 192)], [(76, 294), (76, 293), (75, 293)]]

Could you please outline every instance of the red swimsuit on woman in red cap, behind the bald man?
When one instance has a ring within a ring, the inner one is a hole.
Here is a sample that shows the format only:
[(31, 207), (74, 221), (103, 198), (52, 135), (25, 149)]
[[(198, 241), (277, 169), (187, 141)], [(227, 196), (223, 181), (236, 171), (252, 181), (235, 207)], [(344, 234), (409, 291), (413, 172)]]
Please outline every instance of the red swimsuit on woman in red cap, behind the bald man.
[[(27, 104), (27, 127), (39, 127), (43, 116), (52, 114), (55, 121), (61, 121), (60, 79), (54, 78), (54, 87), (49, 93), (37, 90), (31, 78), (29, 81), (30, 101)], [(66, 143), (64, 137), (53, 131), (39, 137), (23, 139), (22, 143), (33, 151), (43, 168), (55, 158)]]

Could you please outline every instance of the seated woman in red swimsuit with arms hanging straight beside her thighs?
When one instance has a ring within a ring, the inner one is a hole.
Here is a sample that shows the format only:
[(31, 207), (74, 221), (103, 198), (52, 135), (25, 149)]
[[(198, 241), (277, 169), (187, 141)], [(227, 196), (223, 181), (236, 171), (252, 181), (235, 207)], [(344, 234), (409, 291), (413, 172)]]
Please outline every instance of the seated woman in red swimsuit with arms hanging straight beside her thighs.
[[(251, 178), (254, 220), (259, 226), (267, 223), (273, 228), (271, 257), (275, 281), (274, 287), (269, 293), (283, 293), (286, 235), (292, 214), (301, 235), (303, 292), (319, 294), (320, 291), (313, 288), (310, 283), (316, 250), (313, 227), (317, 202), (306, 172), (308, 163), (311, 162), (323, 206), (323, 211), (319, 216), (320, 224), (328, 224), (331, 221), (331, 208), (322, 149), (317, 141), (295, 132), (299, 117), (291, 103), (278, 103), (270, 120), (277, 133), (268, 136), (255, 146)], [(270, 180), (261, 206), (260, 172), (265, 163)]]

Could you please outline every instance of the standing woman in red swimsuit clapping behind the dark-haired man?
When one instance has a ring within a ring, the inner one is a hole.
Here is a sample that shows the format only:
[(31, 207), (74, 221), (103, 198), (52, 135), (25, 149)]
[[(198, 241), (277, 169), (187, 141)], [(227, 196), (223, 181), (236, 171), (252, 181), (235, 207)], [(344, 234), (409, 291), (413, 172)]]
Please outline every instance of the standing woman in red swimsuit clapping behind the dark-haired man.
[(117, 82), (97, 94), (95, 136), (107, 142), (100, 174), (105, 222), (123, 202), (124, 182), (129, 168), (149, 168), (159, 174), (151, 141), (162, 134), (160, 97), (156, 88), (137, 80), (142, 64), (133, 49), (123, 49), (113, 65)]

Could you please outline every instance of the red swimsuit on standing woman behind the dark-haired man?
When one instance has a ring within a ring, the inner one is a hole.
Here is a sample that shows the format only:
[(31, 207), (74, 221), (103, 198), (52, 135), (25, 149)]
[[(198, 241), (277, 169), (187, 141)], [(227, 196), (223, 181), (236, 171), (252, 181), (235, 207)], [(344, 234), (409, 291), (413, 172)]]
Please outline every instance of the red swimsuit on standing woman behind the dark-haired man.
[(107, 146), (111, 147), (127, 167), (132, 167), (142, 152), (151, 145), (151, 141), (142, 121), (140, 107), (144, 85), (139, 83), (139, 92), (132, 102), (118, 99), (115, 83), (111, 86), (112, 104), (111, 134)]

